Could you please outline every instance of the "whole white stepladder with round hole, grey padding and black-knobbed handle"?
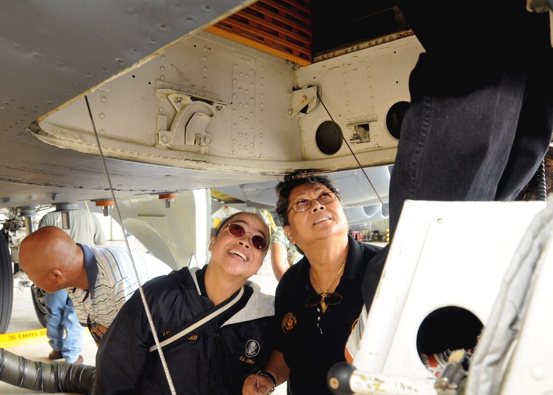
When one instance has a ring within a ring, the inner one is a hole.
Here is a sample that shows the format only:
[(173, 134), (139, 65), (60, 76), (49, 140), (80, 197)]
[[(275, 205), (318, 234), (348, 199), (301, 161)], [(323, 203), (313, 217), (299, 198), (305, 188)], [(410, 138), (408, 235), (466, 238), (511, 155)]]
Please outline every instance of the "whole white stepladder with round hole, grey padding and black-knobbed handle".
[[(406, 201), (353, 365), (328, 373), (332, 392), (553, 394), (552, 240), (553, 202)], [(429, 321), (446, 309), (465, 314)], [(468, 372), (450, 358), (436, 378), (421, 336), (466, 335), (467, 315), (483, 325)]]

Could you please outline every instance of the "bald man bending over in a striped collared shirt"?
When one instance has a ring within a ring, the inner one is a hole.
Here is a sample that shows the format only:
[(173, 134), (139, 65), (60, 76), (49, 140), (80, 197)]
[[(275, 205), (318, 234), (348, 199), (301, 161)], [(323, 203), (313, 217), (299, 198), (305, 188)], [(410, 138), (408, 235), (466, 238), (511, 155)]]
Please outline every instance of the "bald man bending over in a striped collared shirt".
[[(140, 284), (171, 272), (149, 254), (132, 251), (132, 261)], [(96, 345), (138, 288), (132, 261), (125, 248), (75, 243), (56, 226), (39, 228), (19, 246), (19, 265), (29, 279), (46, 292), (65, 288)]]

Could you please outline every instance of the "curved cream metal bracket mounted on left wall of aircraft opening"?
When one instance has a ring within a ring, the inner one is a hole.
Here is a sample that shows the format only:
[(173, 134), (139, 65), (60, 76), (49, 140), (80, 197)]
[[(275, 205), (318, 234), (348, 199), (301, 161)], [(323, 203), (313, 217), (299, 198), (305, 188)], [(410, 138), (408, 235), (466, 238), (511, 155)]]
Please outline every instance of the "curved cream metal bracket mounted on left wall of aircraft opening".
[(158, 115), (158, 145), (173, 147), (174, 145), (211, 144), (211, 135), (206, 131), (207, 125), (215, 113), (228, 103), (172, 89), (158, 89), (156, 92), (166, 93), (176, 110), (169, 129), (167, 129), (167, 117)]

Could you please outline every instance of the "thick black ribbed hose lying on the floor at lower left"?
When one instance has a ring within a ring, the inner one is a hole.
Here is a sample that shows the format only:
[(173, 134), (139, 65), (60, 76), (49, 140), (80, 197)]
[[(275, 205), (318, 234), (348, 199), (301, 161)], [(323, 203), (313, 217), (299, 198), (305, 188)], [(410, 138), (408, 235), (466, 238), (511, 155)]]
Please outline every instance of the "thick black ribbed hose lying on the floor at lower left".
[(94, 395), (96, 367), (35, 362), (0, 349), (0, 381), (41, 392)]

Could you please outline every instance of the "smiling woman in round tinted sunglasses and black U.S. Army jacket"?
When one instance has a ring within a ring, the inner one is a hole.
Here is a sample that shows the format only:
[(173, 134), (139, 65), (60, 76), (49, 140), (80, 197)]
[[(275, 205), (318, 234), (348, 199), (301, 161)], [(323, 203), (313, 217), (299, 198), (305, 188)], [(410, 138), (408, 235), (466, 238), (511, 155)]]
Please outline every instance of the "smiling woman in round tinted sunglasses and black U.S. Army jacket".
[[(268, 235), (260, 216), (231, 215), (212, 232), (207, 265), (143, 286), (176, 393), (242, 393), (244, 378), (267, 362), (274, 298), (247, 280), (263, 263)], [(171, 393), (138, 292), (102, 339), (96, 393)]]

